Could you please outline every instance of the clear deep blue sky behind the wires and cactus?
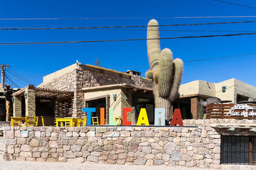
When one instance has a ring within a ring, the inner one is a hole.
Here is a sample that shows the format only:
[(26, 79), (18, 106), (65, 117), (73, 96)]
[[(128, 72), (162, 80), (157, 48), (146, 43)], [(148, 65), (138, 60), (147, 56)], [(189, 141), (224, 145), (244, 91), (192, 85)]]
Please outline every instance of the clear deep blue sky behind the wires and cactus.
[[(256, 6), (256, 1), (232, 1)], [(198, 17), (198, 16), (252, 16), (256, 9), (245, 8), (212, 0), (198, 1), (1, 1), (0, 18), (112, 18), (112, 17)], [(150, 19), (92, 19), (92, 20), (0, 20), (5, 27), (90, 27), (114, 25), (147, 25)], [(157, 19), (159, 24), (193, 24), (207, 22), (235, 22), (256, 18), (168, 18)], [(161, 27), (161, 38), (176, 36), (203, 36), (235, 34), (239, 32), (204, 31), (255, 31), (256, 23), (193, 25)], [(143, 28), (141, 28), (143, 29)], [(145, 28), (144, 28), (145, 29)], [(175, 30), (175, 31), (170, 31)], [(198, 32), (193, 32), (198, 31)], [(100, 39), (146, 38), (147, 31), (124, 30), (28, 30), (0, 31), (0, 43), (36, 41), (86, 41)], [(161, 40), (161, 49), (170, 48), (173, 58), (184, 61), (227, 57), (256, 53), (256, 35), (218, 38), (190, 38)], [(42, 76), (79, 60), (94, 64), (99, 58), (102, 67), (118, 71), (134, 69), (145, 76), (149, 68), (146, 41), (117, 41), (106, 43), (69, 43), (50, 45), (0, 46), (0, 63), (12, 66), (12, 71), (38, 85)], [(200, 62), (185, 62), (182, 83), (205, 80), (213, 83), (237, 78), (256, 86), (256, 55)], [(143, 67), (131, 67), (131, 66)], [(146, 65), (146, 66), (145, 66)], [(119, 68), (127, 67), (127, 68)], [(129, 68), (130, 67), (130, 68)], [(25, 87), (26, 83), (8, 74), (9, 78)], [(15, 87), (15, 86), (14, 86)]]

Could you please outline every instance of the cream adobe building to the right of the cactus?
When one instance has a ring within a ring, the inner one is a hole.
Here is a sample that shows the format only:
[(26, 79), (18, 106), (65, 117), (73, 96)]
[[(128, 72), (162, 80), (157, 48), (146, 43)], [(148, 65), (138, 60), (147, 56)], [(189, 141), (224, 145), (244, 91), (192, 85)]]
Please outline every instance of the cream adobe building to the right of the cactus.
[(240, 101), (256, 101), (256, 87), (232, 78), (211, 83), (208, 81), (196, 80), (180, 85), (180, 98), (173, 103), (173, 108), (180, 108), (182, 118), (203, 118), (204, 108), (200, 101), (209, 97), (218, 97), (221, 101), (238, 103)]

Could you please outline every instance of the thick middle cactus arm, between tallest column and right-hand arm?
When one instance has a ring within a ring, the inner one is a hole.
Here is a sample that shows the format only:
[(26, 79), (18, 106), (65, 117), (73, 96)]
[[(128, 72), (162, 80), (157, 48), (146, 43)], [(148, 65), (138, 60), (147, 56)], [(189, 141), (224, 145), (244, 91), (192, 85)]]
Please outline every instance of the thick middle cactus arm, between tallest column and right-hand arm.
[(170, 84), (172, 78), (172, 52), (164, 48), (160, 53), (159, 59), (159, 96), (168, 97), (170, 94)]

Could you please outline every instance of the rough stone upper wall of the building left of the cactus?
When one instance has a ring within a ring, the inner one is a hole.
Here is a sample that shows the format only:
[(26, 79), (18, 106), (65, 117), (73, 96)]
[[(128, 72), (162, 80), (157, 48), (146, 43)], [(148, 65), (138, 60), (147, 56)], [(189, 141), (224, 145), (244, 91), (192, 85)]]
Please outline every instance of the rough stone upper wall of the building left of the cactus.
[(152, 81), (140, 76), (122, 74), (117, 71), (106, 71), (105, 69), (86, 65), (79, 65), (77, 69), (54, 78), (49, 83), (42, 83), (40, 87), (74, 92), (73, 117), (81, 117), (83, 115), (82, 108), (84, 107), (82, 88), (119, 83), (130, 83), (140, 87), (153, 87)]

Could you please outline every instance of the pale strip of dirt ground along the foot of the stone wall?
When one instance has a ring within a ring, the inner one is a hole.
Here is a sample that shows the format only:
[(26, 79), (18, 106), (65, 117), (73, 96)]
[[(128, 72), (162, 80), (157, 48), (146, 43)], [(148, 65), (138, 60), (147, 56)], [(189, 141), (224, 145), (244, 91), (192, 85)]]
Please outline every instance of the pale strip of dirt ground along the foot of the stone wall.
[[(172, 170), (188, 170), (188, 169), (195, 169), (195, 170), (203, 170), (202, 168), (191, 168), (191, 167), (171, 167), (171, 166), (127, 166), (127, 165), (111, 165), (111, 164), (92, 164), (92, 163), (70, 163), (70, 162), (21, 162), (21, 161), (0, 161), (0, 169), (26, 169), (26, 170), (48, 170), (48, 169), (100, 169), (100, 170), (111, 170), (111, 169), (118, 169), (118, 170), (157, 170), (157, 169), (172, 169)], [(214, 169), (209, 169), (214, 170)]]

